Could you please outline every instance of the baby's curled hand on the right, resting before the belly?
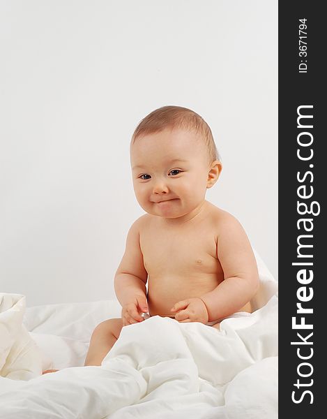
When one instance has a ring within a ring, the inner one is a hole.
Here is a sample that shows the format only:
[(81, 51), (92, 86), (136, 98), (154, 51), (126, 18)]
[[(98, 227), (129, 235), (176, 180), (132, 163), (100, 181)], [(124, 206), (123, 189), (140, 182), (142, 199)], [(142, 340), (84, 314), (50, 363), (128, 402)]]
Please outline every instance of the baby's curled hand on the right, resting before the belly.
[(208, 311), (201, 298), (188, 298), (188, 300), (178, 301), (171, 311), (176, 313), (175, 319), (180, 323), (191, 321), (208, 323)]

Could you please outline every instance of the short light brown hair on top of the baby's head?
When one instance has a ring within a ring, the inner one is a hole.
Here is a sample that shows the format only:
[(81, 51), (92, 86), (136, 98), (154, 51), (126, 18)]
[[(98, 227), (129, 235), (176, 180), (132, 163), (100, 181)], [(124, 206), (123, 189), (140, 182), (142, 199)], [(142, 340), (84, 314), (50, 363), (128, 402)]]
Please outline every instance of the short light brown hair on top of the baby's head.
[(134, 144), (138, 137), (159, 133), (165, 128), (180, 128), (194, 131), (201, 135), (201, 138), (204, 139), (208, 149), (208, 158), (211, 160), (210, 163), (215, 160), (220, 161), (220, 155), (215, 146), (211, 129), (206, 121), (193, 110), (182, 108), (181, 106), (163, 106), (162, 108), (153, 110), (153, 112), (149, 113), (149, 115), (142, 119), (135, 128), (131, 145)]

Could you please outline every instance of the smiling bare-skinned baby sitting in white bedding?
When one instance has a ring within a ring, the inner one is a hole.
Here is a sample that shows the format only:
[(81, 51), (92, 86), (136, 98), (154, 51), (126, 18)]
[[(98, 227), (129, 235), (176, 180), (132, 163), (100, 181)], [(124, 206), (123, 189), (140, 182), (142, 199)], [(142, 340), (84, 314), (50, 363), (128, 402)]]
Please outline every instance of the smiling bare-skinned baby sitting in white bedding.
[(121, 318), (96, 327), (85, 365), (100, 365), (121, 328), (144, 314), (219, 328), (236, 311), (251, 312), (259, 286), (242, 226), (205, 200), (222, 164), (204, 119), (178, 106), (151, 112), (132, 135), (130, 162), (146, 214), (130, 227), (114, 278)]

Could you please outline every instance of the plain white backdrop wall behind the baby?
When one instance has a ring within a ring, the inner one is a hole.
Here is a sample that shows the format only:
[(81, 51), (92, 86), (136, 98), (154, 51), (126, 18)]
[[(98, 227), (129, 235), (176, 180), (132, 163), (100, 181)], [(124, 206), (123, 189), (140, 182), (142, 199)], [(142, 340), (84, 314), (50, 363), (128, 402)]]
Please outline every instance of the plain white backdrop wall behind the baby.
[(277, 276), (277, 1), (0, 1), (0, 291), (104, 300), (132, 221), (130, 136), (163, 105), (211, 126), (234, 214)]

